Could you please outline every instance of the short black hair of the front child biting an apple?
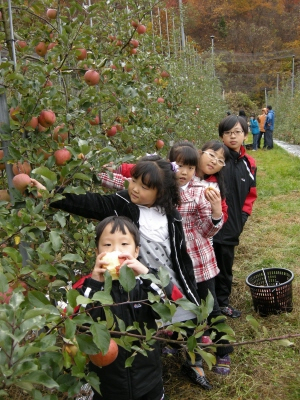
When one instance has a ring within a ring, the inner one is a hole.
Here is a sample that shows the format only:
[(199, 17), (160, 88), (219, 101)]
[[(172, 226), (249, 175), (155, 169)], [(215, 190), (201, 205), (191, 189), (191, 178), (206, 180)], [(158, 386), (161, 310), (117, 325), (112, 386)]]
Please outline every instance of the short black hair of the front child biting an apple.
[(104, 231), (104, 229), (107, 227), (107, 225), (111, 224), (111, 231), (110, 233), (115, 233), (115, 231), (121, 231), (123, 234), (126, 234), (126, 228), (128, 232), (131, 234), (131, 236), (134, 239), (134, 243), (137, 246), (140, 245), (140, 232), (138, 228), (134, 225), (132, 221), (130, 221), (129, 218), (127, 217), (117, 217), (117, 216), (112, 216), (112, 217), (107, 217), (103, 219), (99, 224), (96, 226), (96, 247), (98, 248), (99, 245), (99, 240), (100, 237)]

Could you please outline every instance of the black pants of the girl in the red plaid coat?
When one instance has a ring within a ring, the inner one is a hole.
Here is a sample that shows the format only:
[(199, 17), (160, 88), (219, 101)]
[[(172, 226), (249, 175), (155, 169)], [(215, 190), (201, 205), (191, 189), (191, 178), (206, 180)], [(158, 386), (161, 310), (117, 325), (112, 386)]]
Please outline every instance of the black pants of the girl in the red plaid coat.
[[(215, 279), (216, 278), (212, 278), (209, 279), (208, 281), (204, 281), (204, 282), (197, 282), (197, 292), (198, 295), (200, 297), (201, 300), (206, 300), (206, 297), (208, 295), (208, 291), (210, 291), (210, 293), (212, 294), (213, 298), (214, 298), (214, 308), (212, 310), (212, 312), (209, 314), (208, 318), (207, 318), (207, 322), (209, 325), (211, 325), (211, 320), (213, 318), (219, 317), (220, 315), (223, 315), (221, 313), (220, 307), (219, 307), (219, 303), (217, 300), (217, 296), (216, 296), (216, 291), (215, 291)], [(225, 321), (225, 318), (224, 318)], [(220, 323), (221, 321), (218, 321), (218, 323)], [(204, 335), (210, 335), (210, 331), (213, 331), (214, 328), (213, 326), (211, 327), (211, 329), (209, 329), (208, 332), (205, 332)], [(225, 335), (224, 332), (218, 332), (215, 329), (215, 333), (216, 333), (216, 338), (215, 338), (215, 342), (218, 342), (219, 344), (229, 344), (228, 340), (220, 340), (220, 338), (222, 336)], [(226, 346), (226, 347), (217, 347), (216, 350), (216, 354), (217, 356), (224, 356), (225, 354), (229, 354), (233, 352), (233, 347), (232, 346)]]

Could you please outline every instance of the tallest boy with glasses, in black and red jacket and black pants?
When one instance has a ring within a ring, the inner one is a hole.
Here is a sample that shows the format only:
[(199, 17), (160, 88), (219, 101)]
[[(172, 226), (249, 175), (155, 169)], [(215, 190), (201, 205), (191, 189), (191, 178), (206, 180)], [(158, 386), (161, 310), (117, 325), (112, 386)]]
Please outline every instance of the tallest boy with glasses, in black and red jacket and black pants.
[(224, 167), (228, 220), (213, 237), (214, 250), (220, 273), (215, 278), (216, 294), (224, 315), (238, 318), (241, 312), (229, 305), (232, 286), (234, 249), (244, 224), (257, 198), (255, 160), (246, 154), (243, 142), (248, 124), (243, 117), (229, 115), (219, 124), (219, 136), (229, 148), (230, 158)]

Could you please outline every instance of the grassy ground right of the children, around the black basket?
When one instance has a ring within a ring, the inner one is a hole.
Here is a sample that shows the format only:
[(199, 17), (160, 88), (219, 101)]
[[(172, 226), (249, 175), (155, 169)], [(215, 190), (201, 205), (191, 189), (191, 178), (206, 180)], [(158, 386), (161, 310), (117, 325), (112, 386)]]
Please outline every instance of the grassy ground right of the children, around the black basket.
[[(256, 159), (258, 200), (236, 248), (231, 303), (242, 317), (228, 319), (236, 341), (300, 334), (300, 158), (275, 146), (250, 152)], [(246, 277), (261, 268), (282, 267), (294, 272), (291, 313), (260, 317), (253, 309)], [(258, 333), (246, 320), (252, 315)], [(264, 332), (267, 330), (267, 333)], [(294, 346), (264, 342), (235, 348), (231, 374), (219, 377), (206, 368), (214, 389), (205, 392), (180, 373), (180, 356), (164, 359), (167, 400), (298, 400), (300, 398), (300, 339)]]

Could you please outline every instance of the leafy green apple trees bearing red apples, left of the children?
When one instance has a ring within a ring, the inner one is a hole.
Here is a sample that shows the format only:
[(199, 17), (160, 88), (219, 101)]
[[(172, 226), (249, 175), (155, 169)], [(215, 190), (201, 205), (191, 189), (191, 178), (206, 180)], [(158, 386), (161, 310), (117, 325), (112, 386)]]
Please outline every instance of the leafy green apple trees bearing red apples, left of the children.
[[(175, 47), (166, 52), (156, 30), (160, 2), (151, 8), (146, 0), (0, 4), (0, 397), (18, 386), (52, 400), (75, 396), (85, 381), (98, 387), (86, 355), (105, 352), (114, 329), (109, 290), (97, 297), (107, 306), (107, 322), (91, 321), (84, 310), (74, 315), (84, 299), (71, 284), (93, 267), (94, 222), (51, 210), (53, 189), (103, 193), (95, 177), (103, 164), (146, 152), (165, 156), (180, 138), (200, 145), (216, 137), (226, 106), (212, 65), (200, 64), (192, 46), (180, 46), (175, 17)], [(16, 190), (12, 177), (20, 173), (42, 181), (49, 193), (37, 199), (31, 189)], [(129, 291), (128, 274), (122, 284)], [(198, 335), (211, 307), (209, 299), (197, 310)], [(167, 302), (162, 319), (174, 310)], [(116, 341), (130, 351), (130, 364), (156, 332), (133, 340), (126, 335), (131, 328), (120, 326)], [(184, 326), (170, 329), (184, 339)], [(185, 346), (193, 352), (196, 343)]]

